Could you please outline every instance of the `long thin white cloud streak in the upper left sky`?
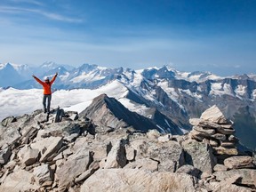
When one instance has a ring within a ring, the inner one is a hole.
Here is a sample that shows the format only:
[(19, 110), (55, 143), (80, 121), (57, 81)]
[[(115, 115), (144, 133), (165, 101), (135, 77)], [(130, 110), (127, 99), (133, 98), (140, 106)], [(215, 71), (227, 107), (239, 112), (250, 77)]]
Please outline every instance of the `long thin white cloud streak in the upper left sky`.
[(39, 9), (28, 9), (28, 8), (20, 8), (20, 7), (13, 7), (13, 6), (0, 6), (0, 12), (10, 13), (10, 14), (19, 14), (19, 13), (36, 13), (39, 15), (44, 16), (50, 20), (60, 20), (63, 22), (73, 22), (73, 23), (80, 23), (84, 20), (71, 18), (67, 16), (63, 16), (61, 14), (57, 14), (54, 12), (45, 12)]

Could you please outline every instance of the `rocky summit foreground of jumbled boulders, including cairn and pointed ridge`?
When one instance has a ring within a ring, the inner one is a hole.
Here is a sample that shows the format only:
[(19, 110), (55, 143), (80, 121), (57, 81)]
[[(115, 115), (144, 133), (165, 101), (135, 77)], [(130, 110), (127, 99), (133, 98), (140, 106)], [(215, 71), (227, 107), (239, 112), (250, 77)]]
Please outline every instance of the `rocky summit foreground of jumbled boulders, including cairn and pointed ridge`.
[(256, 191), (256, 156), (238, 148), (216, 106), (174, 135), (111, 103), (101, 95), (79, 115), (57, 108), (5, 118), (0, 191)]

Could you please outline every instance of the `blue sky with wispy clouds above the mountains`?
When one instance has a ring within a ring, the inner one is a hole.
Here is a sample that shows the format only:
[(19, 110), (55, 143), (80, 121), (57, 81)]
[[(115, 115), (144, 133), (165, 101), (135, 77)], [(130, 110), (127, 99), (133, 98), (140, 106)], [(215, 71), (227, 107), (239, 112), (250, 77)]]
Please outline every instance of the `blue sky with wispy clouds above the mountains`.
[(255, 0), (1, 0), (0, 63), (256, 73)]

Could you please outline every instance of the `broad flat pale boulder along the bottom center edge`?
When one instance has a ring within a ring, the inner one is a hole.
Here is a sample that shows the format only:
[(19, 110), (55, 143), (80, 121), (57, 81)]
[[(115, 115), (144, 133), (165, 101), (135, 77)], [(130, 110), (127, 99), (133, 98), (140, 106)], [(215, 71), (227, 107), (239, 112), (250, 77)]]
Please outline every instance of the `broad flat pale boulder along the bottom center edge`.
[(101, 169), (84, 181), (87, 191), (196, 191), (192, 176), (184, 173), (148, 172), (138, 169)]

